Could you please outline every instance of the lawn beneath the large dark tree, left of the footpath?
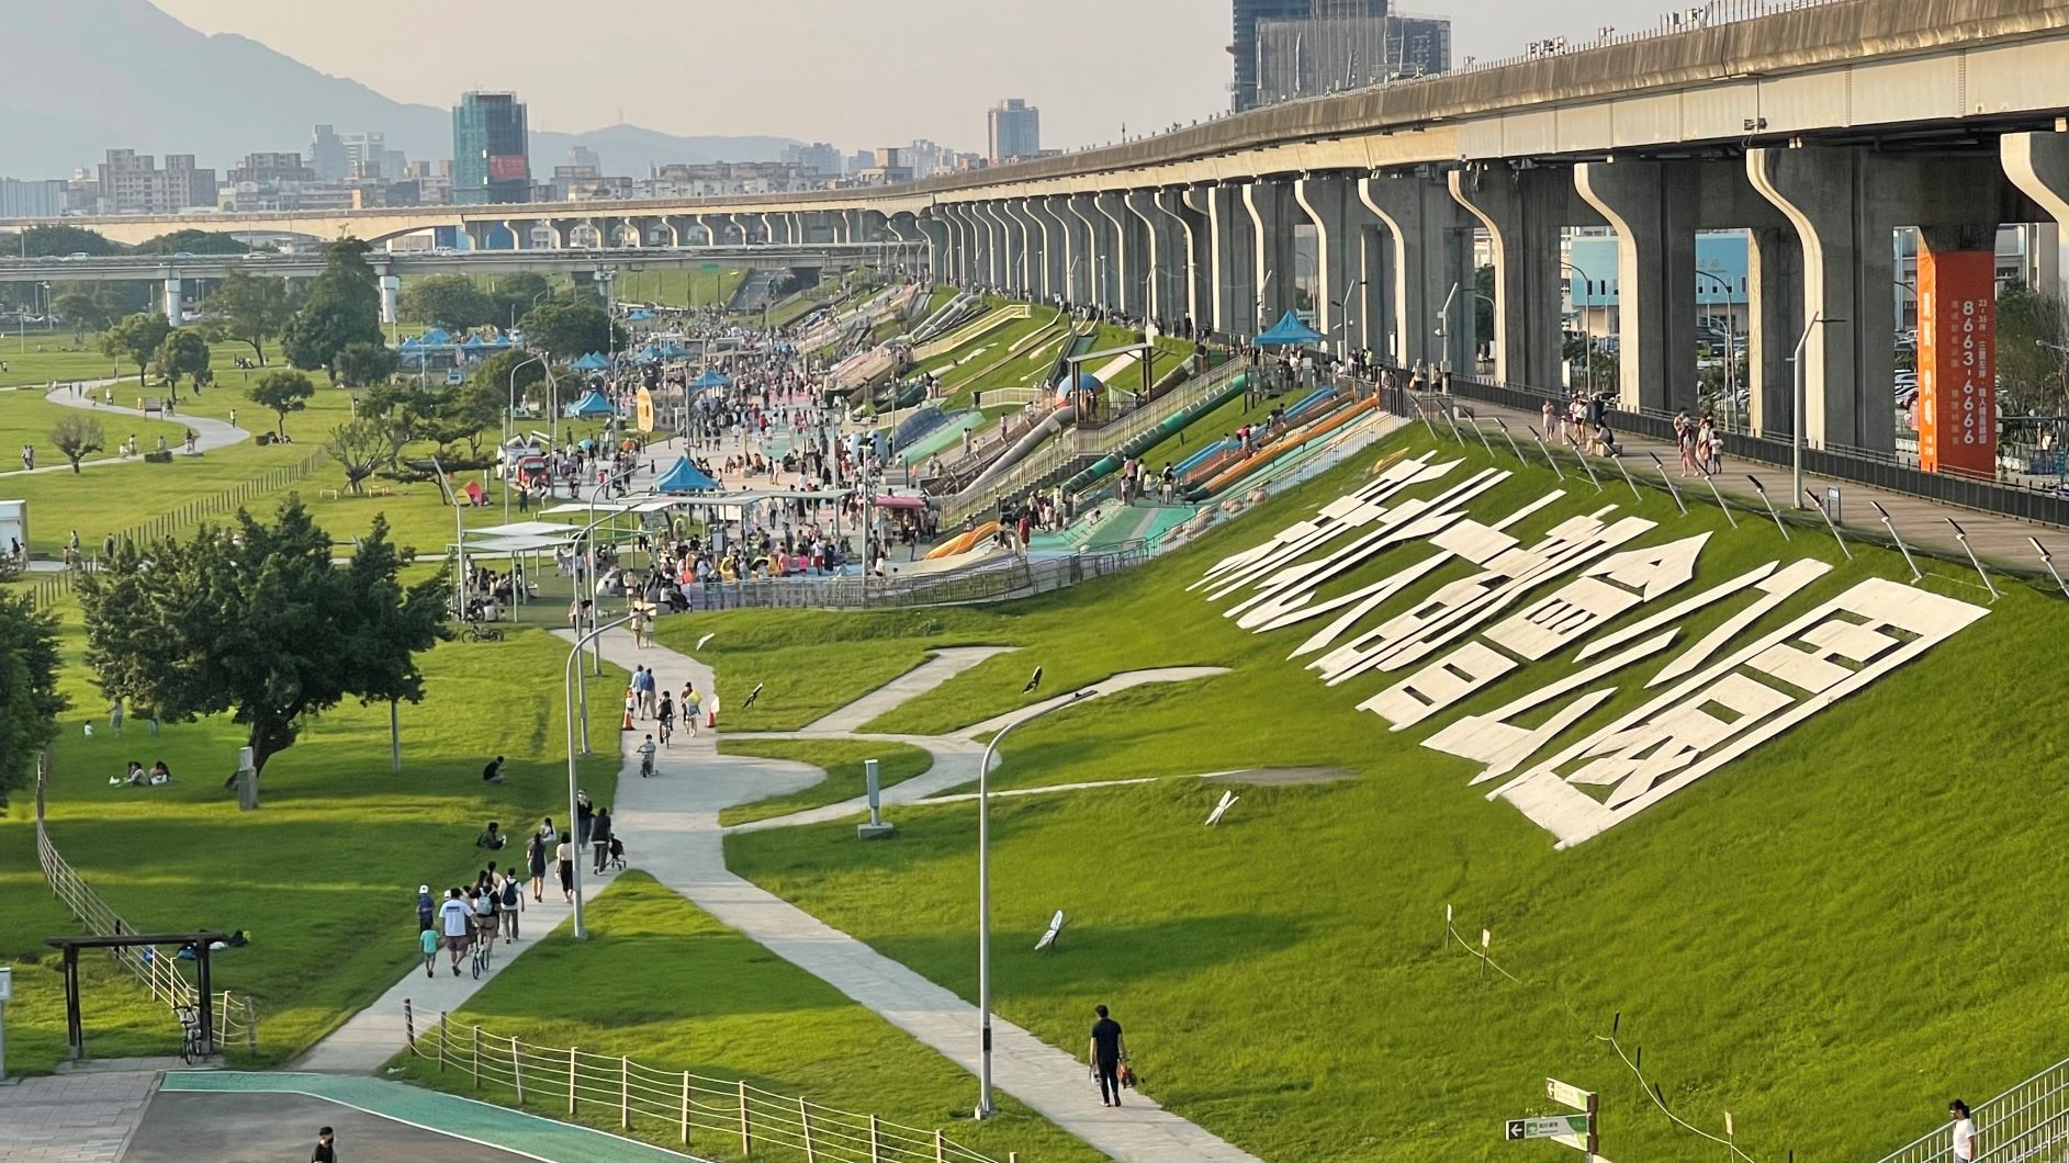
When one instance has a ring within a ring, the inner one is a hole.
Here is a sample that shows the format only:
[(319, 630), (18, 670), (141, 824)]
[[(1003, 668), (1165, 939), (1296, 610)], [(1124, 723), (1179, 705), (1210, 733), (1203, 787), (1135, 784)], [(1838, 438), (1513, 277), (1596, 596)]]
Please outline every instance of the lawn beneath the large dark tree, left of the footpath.
[[(221, 791), (242, 730), (223, 720), (168, 724), (149, 735), (128, 722), (106, 730), (106, 704), (79, 664), (77, 613), (66, 623), (62, 687), (72, 712), (54, 749), (50, 834), (79, 873), (134, 925), (147, 929), (244, 929), (252, 944), (215, 960), (215, 987), (259, 1002), (259, 1064), (281, 1064), (395, 983), (416, 954), (416, 886), (457, 884), (478, 867), (474, 836), (486, 819), (523, 834), (542, 815), (567, 817), (565, 726), (559, 683), (567, 648), (540, 629), (501, 644), (443, 644), (424, 662), (426, 702), (401, 710), (403, 770), (389, 770), (385, 706), (346, 704), (306, 722), (300, 743), (263, 774), (261, 809), (242, 815)], [(602, 679), (608, 687), (619, 679)], [(538, 693), (513, 697), (517, 689)], [(85, 739), (81, 724), (99, 720)], [(617, 745), (617, 702), (592, 699), (592, 737)], [(482, 764), (507, 755), (507, 782), (480, 780)], [(166, 759), (178, 782), (163, 788), (108, 786), (126, 759)], [(608, 805), (614, 759), (586, 759), (583, 780)], [(31, 799), (19, 797), (0, 836), (0, 879), (33, 875)], [(17, 853), (29, 853), (27, 871)], [(515, 851), (511, 851), (515, 855)], [(48, 933), (77, 931), (39, 894), (23, 923), (0, 933), (0, 956), (41, 952)], [(17, 917), (10, 913), (10, 917)], [(52, 927), (58, 925), (58, 927)], [(29, 1006), (8, 1010), (10, 1049), (62, 1043), (62, 1014), (50, 1028), (56, 971), (17, 979)], [(124, 987), (126, 989), (126, 987)], [(130, 1022), (137, 1004), (106, 989), (93, 1004)], [(91, 1020), (91, 1018), (89, 1018)], [(157, 1051), (178, 1045), (178, 1026), (118, 1026), (106, 1049), (137, 1051), (157, 1035)], [(170, 1026), (170, 1028), (168, 1028)], [(89, 1033), (89, 1039), (95, 1035)], [(39, 1053), (41, 1053), (39, 1051)], [(242, 1055), (238, 1055), (242, 1057)], [(50, 1062), (10, 1057), (17, 1070)]]

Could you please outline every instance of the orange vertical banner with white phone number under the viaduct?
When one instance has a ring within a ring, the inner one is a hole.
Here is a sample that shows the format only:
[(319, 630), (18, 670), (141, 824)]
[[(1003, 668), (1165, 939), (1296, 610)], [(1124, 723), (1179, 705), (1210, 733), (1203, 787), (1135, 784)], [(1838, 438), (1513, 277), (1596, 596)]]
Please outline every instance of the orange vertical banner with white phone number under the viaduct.
[(1918, 468), (1997, 476), (1997, 255), (1918, 248)]

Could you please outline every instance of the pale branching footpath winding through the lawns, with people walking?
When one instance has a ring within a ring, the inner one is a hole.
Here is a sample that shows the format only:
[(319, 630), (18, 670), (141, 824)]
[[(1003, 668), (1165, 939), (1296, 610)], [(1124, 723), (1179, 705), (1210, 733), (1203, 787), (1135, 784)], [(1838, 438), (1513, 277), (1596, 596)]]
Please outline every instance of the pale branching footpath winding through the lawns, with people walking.
[[(623, 629), (602, 637), (602, 652), (625, 670), (650, 666), (670, 685), (691, 679), (703, 691), (716, 689), (712, 668), (703, 662), (660, 646), (633, 648), (631, 635)], [(995, 648), (941, 650), (923, 666), (819, 718), (805, 730), (761, 737), (883, 739), (927, 749), (933, 755), (933, 768), (886, 788), (886, 803), (914, 803), (946, 788), (970, 784), (977, 780), (985, 751), (977, 737), (995, 730), (999, 720), (966, 726), (952, 737), (859, 735), (857, 730), (997, 652)], [(1140, 670), (1115, 675), (1099, 683), (1097, 691), (1107, 695), (1140, 683), (1188, 681), (1217, 673), (1221, 670), (1206, 666)], [(1026, 714), (1026, 710), (1016, 714)], [(637, 733), (623, 733), (621, 745), (631, 747), (635, 737)], [(610, 807), (617, 830), (629, 840), (631, 867), (654, 875), (722, 923), (819, 977), (974, 1074), (981, 1053), (979, 1014), (972, 1004), (726, 869), (726, 828), (718, 824), (720, 809), (811, 786), (823, 778), (823, 772), (782, 759), (720, 755), (716, 737), (716, 730), (687, 741), (679, 737), (674, 747), (656, 757), (656, 778), (650, 780), (637, 776), (627, 751)], [(966, 799), (952, 797), (948, 801)], [(857, 811), (861, 811), (861, 801), (852, 799), (743, 824), (739, 830), (792, 828), (852, 817)], [(586, 898), (594, 896), (596, 888), (596, 882), (583, 882)], [(540, 940), (565, 913), (567, 906), (554, 900), (528, 902), (521, 921), (523, 937), (517, 946), (499, 950), (505, 956), (499, 956), (497, 968)], [(492, 981), (492, 975), (482, 981)], [(317, 1045), (296, 1068), (377, 1070), (401, 1047), (403, 997), (412, 997), (420, 1020), (428, 1020), (439, 1010), (459, 1008), (478, 987), (478, 981), (455, 979), (449, 971), (434, 979), (424, 979), (420, 971), (412, 973), (370, 1010), (354, 1016)], [(1084, 1064), (1076, 1053), (1045, 1045), (997, 1016), (993, 1016), (993, 1074), (1001, 1091), (1113, 1159), (1256, 1163), (1254, 1155), (1165, 1111), (1146, 1095), (1132, 1095), (1126, 1107), (1097, 1105)]]

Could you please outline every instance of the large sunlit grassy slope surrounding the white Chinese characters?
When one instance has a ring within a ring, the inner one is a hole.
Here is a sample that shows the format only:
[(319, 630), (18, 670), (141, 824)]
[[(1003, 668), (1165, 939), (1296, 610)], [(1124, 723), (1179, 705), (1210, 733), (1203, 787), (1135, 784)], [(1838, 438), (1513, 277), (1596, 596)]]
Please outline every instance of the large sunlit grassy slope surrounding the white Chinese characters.
[[(1486, 461), (1442, 451), (1467, 470)], [(943, 610), (925, 631), (879, 615), (826, 623), (881, 631), (830, 644), (830, 666), (919, 639), (1022, 646), (867, 730), (935, 733), (1022, 706), (1037, 697), (1020, 693), (1030, 664), (1045, 666), (1045, 693), (1134, 666), (1235, 668), (1097, 699), (1003, 745), (999, 786), (1167, 778), (993, 805), (1001, 1014), (1074, 1047), (1086, 1008), (1117, 1006), (1148, 1091), (1266, 1159), (1508, 1159), (1494, 1128), (1541, 1107), (1546, 1076), (1603, 1093), (1612, 1157), (1707, 1151), (1597, 1041), (1616, 1014), (1666, 1103), (1705, 1128), (1732, 1111), (1757, 1159), (1872, 1159), (1937, 1124), (1949, 1093), (1990, 1095), (2061, 1057), (2050, 1014), (2069, 1004), (2069, 923), (2044, 904), (2059, 896), (2055, 842), (2036, 828), (2057, 811), (2065, 770), (2055, 687), (2036, 681), (2055, 666), (2057, 600), (2007, 588), (1990, 617), (1918, 664), (1558, 853), (1469, 786), (1473, 766), (1419, 743), (1457, 714), (1570, 675), (1564, 654), (1390, 733), (1355, 710), (1386, 681), (1324, 687), (1287, 660), (1301, 631), (1252, 635), (1183, 590), (1208, 563), (1312, 515), (1366, 464), (1113, 579)], [(1506, 513), (1554, 484), (1523, 472), (1473, 511)], [(1856, 546), (1848, 565), (1829, 538), (1783, 544), (1771, 526), (1732, 530), (1709, 507), (1678, 517), (1651, 493), (1635, 505), (1566, 488), (1512, 532), (1531, 542), (1612, 503), (1661, 521), (1641, 544), (1709, 530), (1686, 592), (1771, 559), (1833, 561), (1781, 617), (1866, 575), (1908, 577), (1883, 550)], [(1353, 571), (1318, 598), (1392, 569)], [(1982, 598), (1959, 571), (1928, 569), (1930, 590)], [(1467, 575), (1440, 567), (1388, 610)], [(1682, 642), (1726, 613), (1692, 615)], [(1641, 697), (1624, 689), (1581, 726)], [(1204, 830), (1221, 788), (1190, 776), (1262, 764), (1359, 778), (1237, 788), (1229, 822)], [(900, 809), (892, 844), (859, 844), (840, 824), (737, 834), (726, 851), (763, 888), (972, 997), (972, 842), (970, 807), (941, 805)], [(1521, 983), (1479, 979), (1444, 937), (1446, 906), (1463, 933), (1492, 929), (1496, 962)], [(1055, 908), (1072, 917), (1061, 950), (1034, 954)]]

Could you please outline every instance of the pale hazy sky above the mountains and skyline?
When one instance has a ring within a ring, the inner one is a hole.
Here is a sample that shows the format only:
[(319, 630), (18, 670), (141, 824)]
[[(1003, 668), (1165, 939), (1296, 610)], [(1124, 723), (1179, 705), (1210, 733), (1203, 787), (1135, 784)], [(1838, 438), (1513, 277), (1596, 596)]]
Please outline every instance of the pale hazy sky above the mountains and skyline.
[[(60, 0), (62, 2), (62, 0)], [(1227, 108), (1229, 0), (155, 0), (401, 101), (515, 89), (532, 126), (619, 120), (846, 149), (985, 147), (985, 108), (1026, 97), (1072, 147)], [(1417, 0), (1455, 58), (1639, 29), (1666, 0)], [(366, 126), (379, 128), (379, 126)]]

